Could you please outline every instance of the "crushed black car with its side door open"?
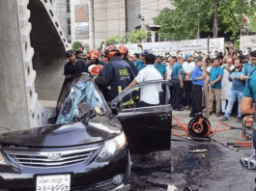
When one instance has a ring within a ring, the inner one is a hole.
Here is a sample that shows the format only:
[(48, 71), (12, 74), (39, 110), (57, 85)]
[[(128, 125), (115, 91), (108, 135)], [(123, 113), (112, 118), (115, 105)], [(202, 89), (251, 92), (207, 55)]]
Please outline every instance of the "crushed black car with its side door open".
[(129, 150), (170, 149), (167, 96), (159, 106), (122, 107), (122, 97), (147, 83), (109, 107), (88, 74), (66, 79), (54, 124), (0, 134), (0, 191), (129, 190)]

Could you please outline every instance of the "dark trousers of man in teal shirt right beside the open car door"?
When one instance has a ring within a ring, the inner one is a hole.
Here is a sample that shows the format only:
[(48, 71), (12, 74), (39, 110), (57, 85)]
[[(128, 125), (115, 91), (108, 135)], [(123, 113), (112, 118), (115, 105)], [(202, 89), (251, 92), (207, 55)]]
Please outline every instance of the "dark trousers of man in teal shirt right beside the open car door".
[(172, 84), (173, 84), (173, 87), (172, 87), (173, 109), (181, 109), (183, 89), (181, 88), (180, 81), (178, 79), (173, 79)]

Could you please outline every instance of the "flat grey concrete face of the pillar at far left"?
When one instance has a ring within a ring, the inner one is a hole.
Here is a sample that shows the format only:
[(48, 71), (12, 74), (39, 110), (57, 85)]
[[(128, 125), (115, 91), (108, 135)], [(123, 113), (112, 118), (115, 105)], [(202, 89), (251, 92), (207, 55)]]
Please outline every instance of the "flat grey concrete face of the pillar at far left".
[(22, 43), (20, 30), (25, 11), (18, 2), (0, 1), (0, 126), (10, 129), (30, 127), (23, 58), (28, 44)]

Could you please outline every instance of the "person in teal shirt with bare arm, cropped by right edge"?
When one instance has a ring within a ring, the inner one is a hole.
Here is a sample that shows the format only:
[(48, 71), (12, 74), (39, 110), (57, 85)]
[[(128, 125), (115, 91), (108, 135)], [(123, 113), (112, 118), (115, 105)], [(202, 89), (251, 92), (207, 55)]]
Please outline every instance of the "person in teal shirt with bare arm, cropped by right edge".
[[(256, 122), (255, 106), (256, 102), (256, 68), (251, 71), (245, 83), (245, 89), (242, 97), (241, 112), (242, 115), (254, 115), (254, 122)], [(254, 123), (256, 124), (256, 123)]]

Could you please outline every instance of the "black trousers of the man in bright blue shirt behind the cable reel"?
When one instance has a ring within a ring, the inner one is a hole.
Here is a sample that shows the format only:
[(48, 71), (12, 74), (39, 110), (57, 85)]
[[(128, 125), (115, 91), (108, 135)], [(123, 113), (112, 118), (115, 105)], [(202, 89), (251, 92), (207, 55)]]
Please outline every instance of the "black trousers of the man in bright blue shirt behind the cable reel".
[(192, 105), (191, 105), (191, 114), (197, 114), (203, 112), (202, 98), (203, 91), (202, 86), (192, 85)]

